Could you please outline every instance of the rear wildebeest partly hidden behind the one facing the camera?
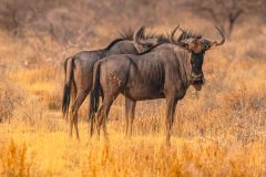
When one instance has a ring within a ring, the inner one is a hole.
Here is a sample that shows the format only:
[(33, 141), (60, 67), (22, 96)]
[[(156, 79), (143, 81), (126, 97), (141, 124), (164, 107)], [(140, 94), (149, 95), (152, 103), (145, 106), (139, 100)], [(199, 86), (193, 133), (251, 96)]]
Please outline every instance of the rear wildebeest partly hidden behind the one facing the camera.
[[(145, 41), (145, 43), (135, 43), (133, 40), (135, 35), (141, 35), (141, 40)], [(74, 126), (76, 137), (79, 138), (78, 111), (91, 91), (94, 63), (102, 58), (111, 54), (136, 54), (150, 49), (156, 43), (163, 42), (168, 42), (168, 39), (165, 35), (145, 35), (144, 28), (142, 27), (134, 34), (131, 30), (129, 32), (122, 33), (122, 37), (120, 39), (113, 40), (105, 49), (95, 51), (82, 51), (65, 60), (65, 81), (62, 100), (62, 112), (63, 115), (68, 117), (70, 100), (72, 100), (73, 104), (70, 112), (70, 136), (72, 136), (72, 129)], [(126, 101), (131, 102), (130, 100)], [(126, 110), (126, 112), (129, 112), (129, 110)], [(91, 114), (89, 117), (90, 116)], [(93, 125), (91, 125), (91, 127), (93, 127)]]

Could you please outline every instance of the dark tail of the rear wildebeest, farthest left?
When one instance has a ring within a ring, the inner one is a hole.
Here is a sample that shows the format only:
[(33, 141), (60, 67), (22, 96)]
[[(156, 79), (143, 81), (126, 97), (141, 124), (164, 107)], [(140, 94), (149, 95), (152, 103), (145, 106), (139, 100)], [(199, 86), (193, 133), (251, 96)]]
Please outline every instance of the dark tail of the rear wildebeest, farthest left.
[(68, 115), (70, 105), (71, 85), (73, 82), (74, 58), (68, 58), (64, 61), (64, 88), (62, 98), (62, 113)]

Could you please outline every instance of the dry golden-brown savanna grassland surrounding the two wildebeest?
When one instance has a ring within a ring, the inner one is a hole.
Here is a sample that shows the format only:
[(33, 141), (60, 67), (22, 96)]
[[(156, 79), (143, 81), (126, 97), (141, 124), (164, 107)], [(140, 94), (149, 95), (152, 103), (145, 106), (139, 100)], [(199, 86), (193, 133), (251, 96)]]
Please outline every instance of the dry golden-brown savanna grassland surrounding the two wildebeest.
[[(182, 14), (174, 20), (217, 38), (212, 22), (185, 14), (191, 21), (180, 20)], [(172, 21), (151, 22), (149, 29), (165, 33), (175, 25)], [(63, 59), (105, 46), (120, 29), (100, 23), (94, 30), (82, 46), (37, 35), (34, 29), (16, 35), (0, 30), (1, 176), (266, 176), (266, 25), (260, 19), (239, 23), (231, 40), (207, 52), (206, 84), (198, 93), (190, 88), (178, 102), (168, 148), (163, 144), (164, 100), (137, 103), (129, 138), (119, 97), (108, 143), (89, 137), (85, 102), (81, 140), (69, 138), (60, 112)]]

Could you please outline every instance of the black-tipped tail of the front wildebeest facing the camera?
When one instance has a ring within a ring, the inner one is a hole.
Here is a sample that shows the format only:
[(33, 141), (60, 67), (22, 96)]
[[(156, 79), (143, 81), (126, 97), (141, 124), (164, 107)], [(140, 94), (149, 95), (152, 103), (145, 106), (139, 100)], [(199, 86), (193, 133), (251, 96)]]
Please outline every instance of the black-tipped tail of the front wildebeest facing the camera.
[(92, 111), (92, 113), (96, 113), (99, 107), (99, 97), (101, 92), (100, 67), (101, 67), (101, 61), (96, 62), (93, 67), (93, 85), (92, 85), (91, 104), (90, 104), (91, 106), (90, 110)]

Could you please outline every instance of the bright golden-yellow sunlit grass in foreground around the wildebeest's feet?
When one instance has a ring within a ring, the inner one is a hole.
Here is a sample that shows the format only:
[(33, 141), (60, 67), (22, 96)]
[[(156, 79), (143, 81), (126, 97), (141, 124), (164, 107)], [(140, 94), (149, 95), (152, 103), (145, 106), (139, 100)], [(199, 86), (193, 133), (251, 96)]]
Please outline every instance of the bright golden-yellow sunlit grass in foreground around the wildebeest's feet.
[[(6, 140), (0, 145), (4, 149), (0, 169), (3, 174), (24, 173), (21, 176), (27, 173), (38, 176), (263, 176), (266, 173), (265, 138), (243, 145), (232, 135), (219, 140), (175, 136), (167, 148), (163, 134), (129, 139), (110, 129), (110, 139), (105, 142), (102, 137), (100, 140), (89, 138), (86, 124), (81, 124), (80, 129), (82, 139), (78, 142), (68, 138), (65, 128), (47, 132), (23, 124), (1, 126)], [(13, 155), (13, 150), (17, 154)]]

